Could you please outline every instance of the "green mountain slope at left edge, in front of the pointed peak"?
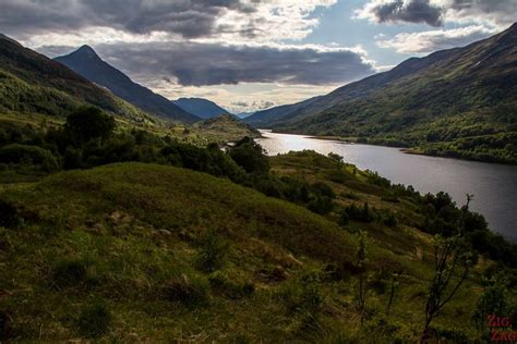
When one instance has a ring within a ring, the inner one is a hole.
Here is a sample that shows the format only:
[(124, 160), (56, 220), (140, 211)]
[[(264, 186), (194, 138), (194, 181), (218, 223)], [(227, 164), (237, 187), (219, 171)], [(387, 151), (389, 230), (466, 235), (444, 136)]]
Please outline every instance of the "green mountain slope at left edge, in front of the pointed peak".
[(85, 103), (137, 121), (146, 113), (61, 63), (0, 35), (0, 111), (65, 115)]

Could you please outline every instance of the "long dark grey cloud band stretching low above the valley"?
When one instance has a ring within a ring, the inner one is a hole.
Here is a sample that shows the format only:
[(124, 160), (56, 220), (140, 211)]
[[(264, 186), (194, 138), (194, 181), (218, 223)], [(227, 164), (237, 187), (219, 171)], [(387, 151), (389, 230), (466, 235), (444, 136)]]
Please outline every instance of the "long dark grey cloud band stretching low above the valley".
[(324, 85), (372, 74), (372, 65), (348, 50), (278, 49), (214, 44), (106, 45), (100, 56), (141, 79), (170, 77), (183, 86), (239, 83)]

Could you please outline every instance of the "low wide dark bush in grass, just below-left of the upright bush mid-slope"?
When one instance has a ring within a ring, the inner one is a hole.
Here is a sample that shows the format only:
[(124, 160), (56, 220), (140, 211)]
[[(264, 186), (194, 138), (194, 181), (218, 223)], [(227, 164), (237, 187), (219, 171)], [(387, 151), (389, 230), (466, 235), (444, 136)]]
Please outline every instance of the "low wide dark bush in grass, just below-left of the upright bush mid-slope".
[(180, 274), (166, 282), (164, 295), (169, 302), (187, 306), (201, 305), (208, 300), (208, 284), (203, 279)]

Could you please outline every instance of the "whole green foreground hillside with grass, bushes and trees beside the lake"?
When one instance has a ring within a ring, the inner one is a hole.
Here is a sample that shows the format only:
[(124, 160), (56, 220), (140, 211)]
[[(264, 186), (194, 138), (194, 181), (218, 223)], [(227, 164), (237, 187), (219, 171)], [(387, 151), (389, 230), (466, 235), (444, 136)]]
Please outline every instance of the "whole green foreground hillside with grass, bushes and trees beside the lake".
[(416, 342), (434, 235), (458, 229), (482, 259), (450, 274), (461, 285), (425, 333), (479, 337), (479, 314), (497, 309), (485, 281), (500, 274), (504, 311), (517, 309), (515, 244), (445, 193), (337, 155), (267, 158), (250, 138), (200, 148), (95, 108), (61, 126), (9, 123), (0, 151), (27, 158), (5, 158), (1, 174), (2, 340)]

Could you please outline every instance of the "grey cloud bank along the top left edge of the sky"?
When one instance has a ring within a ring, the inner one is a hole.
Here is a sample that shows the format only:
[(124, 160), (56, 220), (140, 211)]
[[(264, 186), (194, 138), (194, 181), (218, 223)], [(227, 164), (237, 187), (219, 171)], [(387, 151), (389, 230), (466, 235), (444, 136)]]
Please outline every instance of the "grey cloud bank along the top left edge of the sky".
[(29, 35), (107, 26), (194, 38), (224, 29), (216, 26), (216, 20), (227, 10), (253, 13), (255, 8), (241, 0), (1, 0), (0, 27), (8, 34)]

